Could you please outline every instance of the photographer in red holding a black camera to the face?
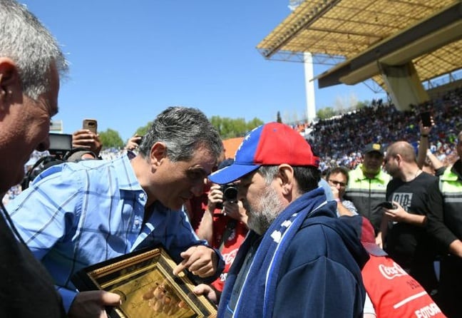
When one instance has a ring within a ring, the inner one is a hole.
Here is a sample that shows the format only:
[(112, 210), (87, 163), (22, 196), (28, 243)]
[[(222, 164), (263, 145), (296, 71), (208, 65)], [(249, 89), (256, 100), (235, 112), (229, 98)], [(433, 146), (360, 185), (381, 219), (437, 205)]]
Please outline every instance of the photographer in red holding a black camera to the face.
[[(233, 162), (232, 159), (224, 160), (218, 168)], [(221, 292), (237, 250), (247, 235), (247, 214), (242, 202), (237, 200), (237, 185), (234, 183), (221, 186), (212, 184), (207, 199), (207, 207), (196, 233), (200, 239), (207, 240), (212, 247), (220, 250), (225, 260), (225, 270), (212, 282), (212, 286)]]

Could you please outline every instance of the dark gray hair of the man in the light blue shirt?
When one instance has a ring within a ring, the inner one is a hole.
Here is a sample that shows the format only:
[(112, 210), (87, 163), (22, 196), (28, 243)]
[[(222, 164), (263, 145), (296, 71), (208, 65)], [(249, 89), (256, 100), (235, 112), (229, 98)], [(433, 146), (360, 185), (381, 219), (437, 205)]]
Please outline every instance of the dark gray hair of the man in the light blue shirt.
[(151, 147), (157, 142), (165, 143), (168, 158), (173, 162), (190, 160), (200, 147), (216, 158), (223, 151), (218, 131), (197, 108), (169, 107), (160, 113), (143, 138), (140, 155), (148, 158)]

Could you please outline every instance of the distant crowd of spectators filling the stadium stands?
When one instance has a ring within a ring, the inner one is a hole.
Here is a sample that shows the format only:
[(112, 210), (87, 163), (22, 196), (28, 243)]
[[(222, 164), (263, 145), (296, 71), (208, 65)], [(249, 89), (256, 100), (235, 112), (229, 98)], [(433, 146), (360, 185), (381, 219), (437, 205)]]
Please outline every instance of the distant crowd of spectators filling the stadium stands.
[[(311, 133), (306, 135), (313, 148), (317, 150), (322, 162), (319, 168), (327, 173), (331, 168), (344, 166), (354, 169), (362, 162), (363, 149), (369, 143), (381, 143), (384, 147), (396, 140), (406, 140), (417, 148), (419, 140), (419, 113), (429, 110), (432, 113), (435, 127), (433, 135), (429, 136), (429, 148), (444, 165), (450, 165), (456, 160), (454, 141), (457, 133), (462, 129), (462, 88), (456, 88), (432, 103), (416, 106), (414, 111), (397, 111), (391, 103), (371, 103), (369, 107), (351, 111), (342, 116), (319, 120), (312, 125)], [(302, 131), (306, 124), (293, 126)], [(111, 160), (118, 158), (124, 149), (107, 148), (101, 150), (101, 158)], [(29, 169), (43, 153), (34, 151), (31, 160), (24, 169)], [(6, 203), (21, 193), (16, 186), (4, 196)]]

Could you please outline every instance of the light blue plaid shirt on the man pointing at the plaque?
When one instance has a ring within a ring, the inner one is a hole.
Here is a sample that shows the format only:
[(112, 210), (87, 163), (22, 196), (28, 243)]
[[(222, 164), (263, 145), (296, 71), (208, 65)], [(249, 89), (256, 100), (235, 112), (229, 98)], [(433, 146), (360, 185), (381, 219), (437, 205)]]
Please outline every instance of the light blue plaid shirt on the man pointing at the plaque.
[(127, 156), (55, 165), (9, 203), (11, 218), (35, 257), (55, 279), (68, 311), (71, 277), (89, 265), (162, 244), (175, 262), (192, 245), (206, 245), (181, 210), (160, 202), (145, 225), (147, 195)]

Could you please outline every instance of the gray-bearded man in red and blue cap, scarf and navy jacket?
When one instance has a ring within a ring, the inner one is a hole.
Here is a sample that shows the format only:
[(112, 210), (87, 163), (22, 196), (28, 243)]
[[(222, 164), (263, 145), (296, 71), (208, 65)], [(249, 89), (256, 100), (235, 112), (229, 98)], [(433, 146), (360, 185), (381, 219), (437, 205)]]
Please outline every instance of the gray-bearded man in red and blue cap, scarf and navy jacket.
[[(318, 164), (299, 133), (267, 123), (245, 137), (235, 163), (210, 175), (214, 183), (240, 180), (237, 199), (250, 228), (218, 317), (361, 317), (359, 266), (367, 255), (318, 188)], [(206, 288), (195, 292), (214, 296)]]

